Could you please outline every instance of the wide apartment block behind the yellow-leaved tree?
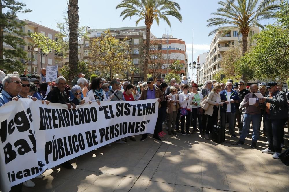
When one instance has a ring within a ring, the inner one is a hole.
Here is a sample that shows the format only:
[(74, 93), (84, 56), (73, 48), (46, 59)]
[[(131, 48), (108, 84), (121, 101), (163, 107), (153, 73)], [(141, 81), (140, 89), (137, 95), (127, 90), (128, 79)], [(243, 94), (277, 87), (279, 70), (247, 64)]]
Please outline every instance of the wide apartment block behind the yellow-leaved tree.
[[(100, 37), (102, 33), (110, 30), (112, 36), (116, 39), (128, 38), (127, 44), (129, 45), (131, 52), (130, 57), (136, 68), (139, 68), (144, 59), (144, 39), (146, 38), (146, 26), (140, 27), (120, 27), (120, 28), (107, 28), (107, 29), (90, 29), (86, 27), (89, 39), (81, 39), (78, 42), (78, 58), (80, 61), (89, 61), (89, 45), (92, 39)], [(155, 38), (153, 34), (150, 34), (151, 38)], [(140, 67), (141, 68), (141, 67)], [(134, 84), (137, 84), (138, 81), (143, 81), (143, 75), (140, 74), (141, 70), (138, 70), (134, 73)], [(96, 74), (99, 74), (99, 71), (95, 71)], [(120, 72), (120, 74), (122, 74)], [(128, 77), (131, 77), (131, 74), (127, 73)]]

